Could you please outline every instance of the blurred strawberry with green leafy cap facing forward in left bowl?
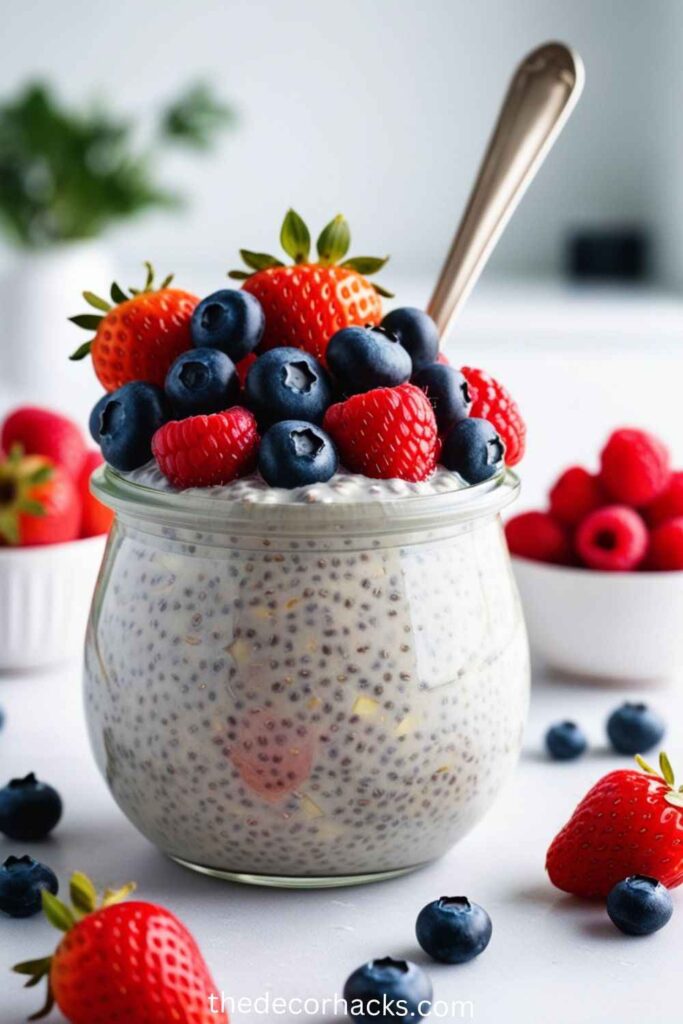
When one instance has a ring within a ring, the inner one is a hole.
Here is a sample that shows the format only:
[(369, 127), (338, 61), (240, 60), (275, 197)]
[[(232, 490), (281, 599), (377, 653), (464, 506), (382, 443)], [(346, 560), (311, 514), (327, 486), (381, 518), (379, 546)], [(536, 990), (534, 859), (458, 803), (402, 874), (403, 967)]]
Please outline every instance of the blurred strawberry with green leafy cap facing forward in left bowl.
[(69, 473), (39, 455), (12, 446), (0, 461), (0, 539), (31, 547), (78, 537), (81, 503)]

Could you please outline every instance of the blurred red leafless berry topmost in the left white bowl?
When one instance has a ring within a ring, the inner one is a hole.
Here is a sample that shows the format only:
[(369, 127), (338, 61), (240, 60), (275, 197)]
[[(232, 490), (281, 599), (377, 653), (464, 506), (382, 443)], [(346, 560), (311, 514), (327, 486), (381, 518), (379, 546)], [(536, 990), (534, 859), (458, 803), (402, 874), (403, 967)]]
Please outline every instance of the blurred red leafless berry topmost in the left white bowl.
[(14, 410), (3, 423), (0, 450), (10, 452), (15, 444), (22, 445), (25, 455), (44, 455), (78, 479), (85, 440), (79, 427), (66, 416), (35, 406)]

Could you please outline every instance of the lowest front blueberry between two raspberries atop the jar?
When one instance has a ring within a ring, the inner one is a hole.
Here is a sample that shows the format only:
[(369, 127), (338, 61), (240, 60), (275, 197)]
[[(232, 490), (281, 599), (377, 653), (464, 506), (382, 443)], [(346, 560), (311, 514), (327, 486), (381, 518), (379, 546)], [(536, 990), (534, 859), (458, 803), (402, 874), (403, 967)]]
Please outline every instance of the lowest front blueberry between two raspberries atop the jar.
[(321, 427), (304, 420), (281, 420), (261, 438), (258, 468), (271, 487), (324, 483), (337, 472), (337, 452)]

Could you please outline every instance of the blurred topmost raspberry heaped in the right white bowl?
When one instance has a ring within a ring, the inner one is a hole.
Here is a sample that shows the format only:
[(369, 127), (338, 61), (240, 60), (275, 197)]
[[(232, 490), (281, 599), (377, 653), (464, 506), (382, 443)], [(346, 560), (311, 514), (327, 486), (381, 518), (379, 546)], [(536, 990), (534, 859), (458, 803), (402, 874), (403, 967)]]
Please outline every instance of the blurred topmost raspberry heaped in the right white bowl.
[(615, 430), (600, 456), (600, 483), (620, 504), (641, 508), (671, 480), (669, 451), (644, 430)]

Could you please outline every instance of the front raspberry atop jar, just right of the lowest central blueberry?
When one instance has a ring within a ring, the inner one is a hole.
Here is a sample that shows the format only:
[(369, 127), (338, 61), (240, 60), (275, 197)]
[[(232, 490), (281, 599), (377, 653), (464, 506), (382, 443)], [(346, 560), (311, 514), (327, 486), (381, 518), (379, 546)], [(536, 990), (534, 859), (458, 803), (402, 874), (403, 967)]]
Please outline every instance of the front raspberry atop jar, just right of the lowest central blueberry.
[(331, 406), (323, 427), (353, 473), (425, 480), (437, 458), (431, 402), (414, 384), (379, 387)]

